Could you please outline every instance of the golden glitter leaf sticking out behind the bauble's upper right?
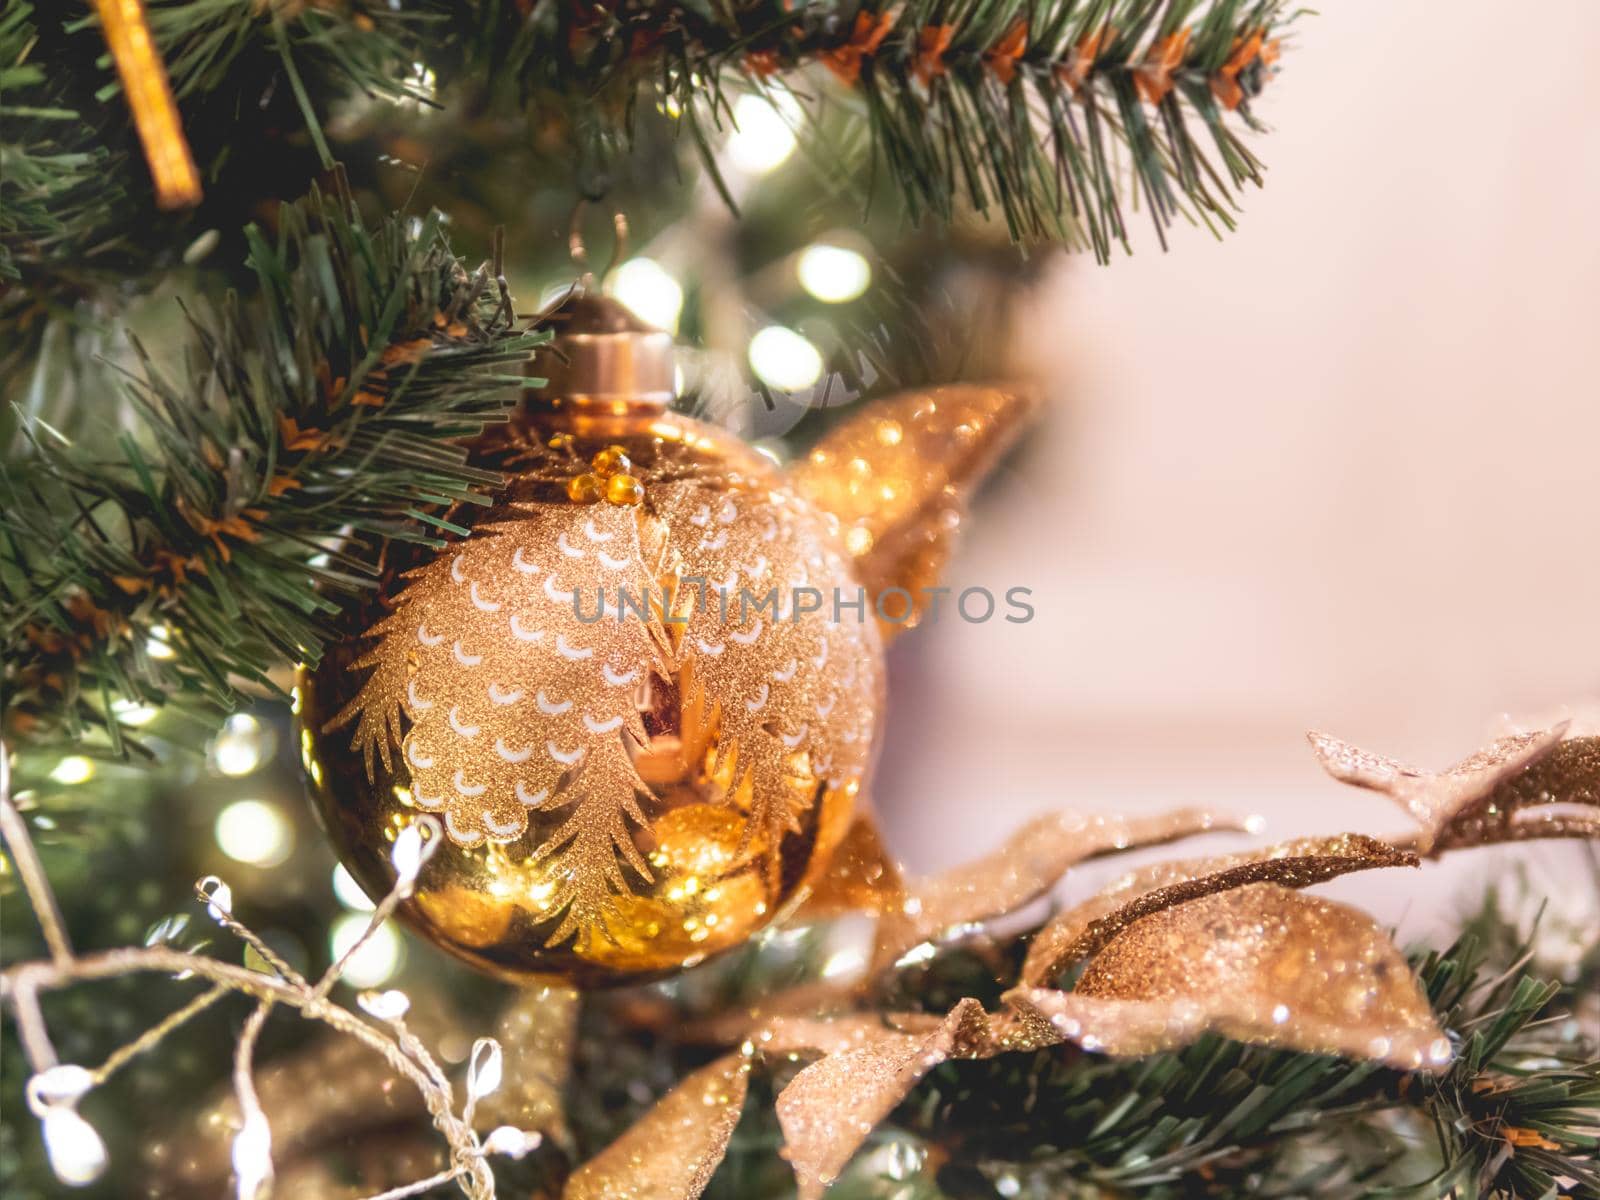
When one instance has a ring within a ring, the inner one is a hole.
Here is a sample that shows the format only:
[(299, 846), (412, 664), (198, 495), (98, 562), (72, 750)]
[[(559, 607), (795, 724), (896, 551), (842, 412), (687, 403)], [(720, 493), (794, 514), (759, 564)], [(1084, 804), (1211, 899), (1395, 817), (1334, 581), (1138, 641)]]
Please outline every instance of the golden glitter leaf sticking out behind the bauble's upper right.
[(922, 589), (939, 581), (966, 496), (1034, 403), (1034, 392), (1014, 384), (902, 392), (835, 427), (790, 469), (795, 490), (838, 518), (867, 595), (909, 594), (885, 597), (883, 611), (907, 616), (882, 621), (886, 635), (920, 619)]

